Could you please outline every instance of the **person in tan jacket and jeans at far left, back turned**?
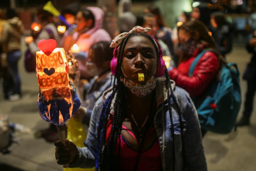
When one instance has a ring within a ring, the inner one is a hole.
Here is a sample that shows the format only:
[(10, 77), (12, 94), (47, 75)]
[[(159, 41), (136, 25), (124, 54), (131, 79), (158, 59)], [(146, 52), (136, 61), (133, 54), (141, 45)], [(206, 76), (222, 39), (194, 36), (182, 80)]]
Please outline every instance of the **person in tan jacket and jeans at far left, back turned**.
[[(25, 28), (13, 9), (7, 10), (6, 17), (7, 23), (1, 28), (0, 43), (5, 44), (7, 47), (7, 62), (13, 75), (14, 90), (12, 95), (7, 94), (5, 98), (19, 100), (21, 98), (21, 79), (18, 61), (21, 58), (20, 38)], [(8, 75), (8, 72), (5, 74)]]

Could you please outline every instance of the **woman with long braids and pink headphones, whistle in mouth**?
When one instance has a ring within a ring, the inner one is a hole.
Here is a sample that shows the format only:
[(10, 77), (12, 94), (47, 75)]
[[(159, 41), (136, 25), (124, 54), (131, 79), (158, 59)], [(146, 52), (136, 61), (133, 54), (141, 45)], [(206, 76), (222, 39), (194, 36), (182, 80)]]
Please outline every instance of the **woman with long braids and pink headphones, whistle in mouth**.
[(170, 80), (149, 30), (136, 26), (113, 39), (117, 84), (96, 102), (85, 147), (54, 143), (58, 164), (111, 171), (207, 170), (196, 109)]

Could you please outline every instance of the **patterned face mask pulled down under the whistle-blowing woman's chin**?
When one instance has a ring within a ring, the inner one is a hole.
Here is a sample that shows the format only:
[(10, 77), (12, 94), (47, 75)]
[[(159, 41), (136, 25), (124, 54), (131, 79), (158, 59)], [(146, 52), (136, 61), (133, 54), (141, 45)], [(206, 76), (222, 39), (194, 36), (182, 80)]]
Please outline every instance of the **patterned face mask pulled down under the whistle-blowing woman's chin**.
[(124, 86), (127, 87), (133, 94), (139, 97), (147, 96), (156, 87), (156, 76), (153, 75), (145, 84), (137, 84), (129, 78), (122, 78)]

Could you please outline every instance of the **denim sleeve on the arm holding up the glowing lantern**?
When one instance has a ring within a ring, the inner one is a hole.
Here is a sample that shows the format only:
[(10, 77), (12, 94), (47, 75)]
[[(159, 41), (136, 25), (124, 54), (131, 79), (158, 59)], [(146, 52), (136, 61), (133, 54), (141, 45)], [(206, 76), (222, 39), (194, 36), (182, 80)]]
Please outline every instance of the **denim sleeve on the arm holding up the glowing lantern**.
[(90, 127), (88, 131), (87, 138), (84, 142), (85, 147), (77, 147), (79, 150), (78, 159), (69, 164), (69, 167), (80, 167), (80, 168), (91, 168), (95, 167), (96, 161), (96, 152), (97, 152), (97, 129), (100, 118), (101, 109), (103, 106), (102, 98), (100, 97), (95, 103), (95, 106), (92, 110), (92, 117), (90, 121)]

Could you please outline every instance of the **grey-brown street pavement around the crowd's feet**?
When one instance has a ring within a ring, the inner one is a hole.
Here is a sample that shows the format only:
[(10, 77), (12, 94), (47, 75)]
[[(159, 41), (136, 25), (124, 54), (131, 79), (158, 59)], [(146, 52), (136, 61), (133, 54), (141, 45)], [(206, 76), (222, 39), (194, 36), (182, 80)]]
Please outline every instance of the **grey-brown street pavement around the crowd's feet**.
[[(24, 46), (23, 49), (25, 50)], [(250, 60), (250, 54), (244, 46), (235, 45), (233, 51), (227, 56), (227, 60), (236, 62), (240, 72), (243, 73)], [(0, 92), (1, 112), (9, 116), (10, 122), (25, 127), (23, 131), (15, 133), (17, 143), (10, 146), (10, 152), (0, 153), (0, 170), (61, 171), (63, 168), (56, 163), (53, 143), (34, 136), (36, 131), (47, 128), (49, 123), (44, 121), (38, 113), (36, 73), (27, 73), (23, 62), (24, 57), (19, 61), (22, 99), (14, 102), (4, 100), (3, 93)], [(241, 88), (244, 101), (246, 82), (242, 79)], [(238, 119), (241, 117), (243, 108), (244, 104), (241, 106)], [(256, 109), (252, 113), (250, 126), (238, 127), (236, 132), (232, 131), (225, 135), (208, 132), (203, 139), (203, 144), (209, 171), (256, 170)]]

